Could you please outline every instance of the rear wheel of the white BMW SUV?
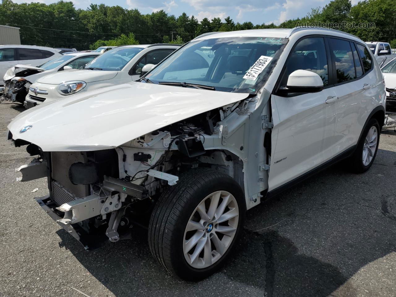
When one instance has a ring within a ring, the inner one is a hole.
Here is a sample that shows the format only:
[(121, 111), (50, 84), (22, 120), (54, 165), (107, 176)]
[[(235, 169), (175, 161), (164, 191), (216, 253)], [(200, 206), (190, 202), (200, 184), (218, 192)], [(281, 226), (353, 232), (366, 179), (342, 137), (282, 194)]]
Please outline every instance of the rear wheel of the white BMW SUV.
[(379, 145), (380, 127), (375, 118), (371, 118), (363, 130), (355, 152), (350, 156), (350, 169), (354, 173), (364, 173), (373, 165)]

